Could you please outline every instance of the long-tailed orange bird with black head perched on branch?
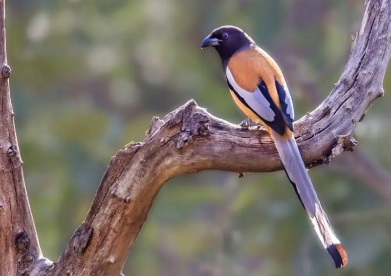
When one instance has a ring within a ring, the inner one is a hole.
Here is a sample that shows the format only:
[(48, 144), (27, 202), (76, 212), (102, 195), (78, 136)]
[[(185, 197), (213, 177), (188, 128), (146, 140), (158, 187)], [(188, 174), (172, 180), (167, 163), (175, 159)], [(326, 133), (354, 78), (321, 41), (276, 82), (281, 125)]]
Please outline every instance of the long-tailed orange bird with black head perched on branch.
[(216, 49), (231, 96), (246, 115), (244, 125), (251, 119), (266, 128), (316, 234), (335, 267), (344, 267), (348, 255), (321, 206), (295, 141), (292, 98), (279, 65), (236, 26), (214, 29), (201, 42), (201, 48), (209, 46)]

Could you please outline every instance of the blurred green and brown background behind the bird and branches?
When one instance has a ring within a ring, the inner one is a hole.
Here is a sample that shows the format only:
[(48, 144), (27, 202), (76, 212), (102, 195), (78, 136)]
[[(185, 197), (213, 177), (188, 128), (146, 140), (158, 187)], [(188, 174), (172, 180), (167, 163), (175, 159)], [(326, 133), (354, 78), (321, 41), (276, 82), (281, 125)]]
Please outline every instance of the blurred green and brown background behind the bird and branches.
[[(56, 260), (109, 159), (153, 115), (193, 98), (239, 123), (215, 27), (244, 29), (280, 64), (300, 118), (344, 69), (364, 0), (7, 1), (11, 96), (43, 254)], [(349, 256), (335, 270), (283, 172), (207, 171), (164, 185), (130, 253), (131, 276), (377, 276), (391, 264), (391, 73), (359, 145), (310, 170)]]

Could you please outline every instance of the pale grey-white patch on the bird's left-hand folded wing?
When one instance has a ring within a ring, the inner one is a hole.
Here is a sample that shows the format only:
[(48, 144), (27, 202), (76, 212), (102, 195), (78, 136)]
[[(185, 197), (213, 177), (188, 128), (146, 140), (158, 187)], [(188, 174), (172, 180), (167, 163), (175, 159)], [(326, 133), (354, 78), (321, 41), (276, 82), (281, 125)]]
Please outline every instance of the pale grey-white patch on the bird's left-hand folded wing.
[[(270, 103), (266, 100), (265, 96), (263, 96), (262, 92), (258, 87), (254, 90), (254, 92), (249, 92), (241, 88), (234, 80), (234, 77), (232, 76), (228, 66), (226, 70), (226, 76), (228, 82), (232, 85), (232, 87), (239, 94), (239, 96), (244, 99), (244, 101), (247, 103), (248, 106), (250, 106), (264, 120), (269, 122), (274, 121), (274, 117), (276, 114), (274, 113), (274, 111), (270, 107)], [(292, 100), (290, 101), (292, 103)], [(293, 113), (293, 109), (292, 109), (292, 113)]]

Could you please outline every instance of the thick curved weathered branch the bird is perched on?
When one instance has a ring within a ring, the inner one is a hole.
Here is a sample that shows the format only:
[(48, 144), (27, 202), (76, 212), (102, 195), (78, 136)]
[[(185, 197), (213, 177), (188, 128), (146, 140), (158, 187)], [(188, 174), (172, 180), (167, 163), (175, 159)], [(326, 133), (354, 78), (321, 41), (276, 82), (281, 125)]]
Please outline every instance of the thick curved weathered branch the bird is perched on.
[[(390, 22), (390, 0), (367, 2), (343, 75), (327, 99), (295, 123), (295, 137), (309, 167), (328, 163), (354, 147), (350, 135), (356, 123), (383, 95), (391, 55)], [(175, 175), (200, 170), (282, 169), (265, 130), (243, 131), (194, 101), (163, 120), (155, 118), (147, 134), (142, 144), (132, 144), (111, 159), (85, 222), (50, 275), (119, 275), (154, 197)]]

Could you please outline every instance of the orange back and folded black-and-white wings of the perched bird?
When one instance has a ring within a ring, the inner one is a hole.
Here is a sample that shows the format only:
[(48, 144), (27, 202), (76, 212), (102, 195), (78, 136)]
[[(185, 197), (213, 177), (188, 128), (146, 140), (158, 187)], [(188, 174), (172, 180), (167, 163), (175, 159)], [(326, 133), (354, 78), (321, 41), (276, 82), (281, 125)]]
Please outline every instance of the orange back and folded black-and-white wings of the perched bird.
[(255, 46), (235, 54), (225, 75), (235, 96), (267, 126), (280, 135), (285, 127), (293, 131), (292, 98), (281, 69), (265, 51)]

